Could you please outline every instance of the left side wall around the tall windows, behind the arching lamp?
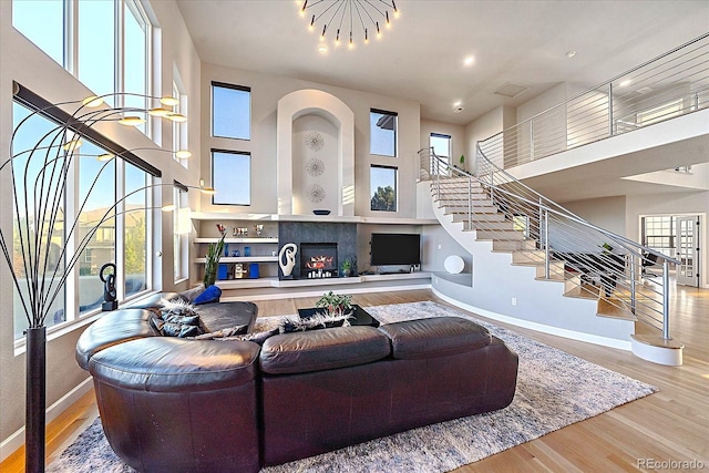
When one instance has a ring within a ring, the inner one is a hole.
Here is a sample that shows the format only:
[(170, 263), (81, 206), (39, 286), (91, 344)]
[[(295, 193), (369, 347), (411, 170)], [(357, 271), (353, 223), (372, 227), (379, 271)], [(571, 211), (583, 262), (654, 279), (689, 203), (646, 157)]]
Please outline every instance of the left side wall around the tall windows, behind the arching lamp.
[[(154, 14), (163, 25), (162, 51), (158, 51), (163, 73), (156, 78), (164, 94), (172, 91), (172, 71), (176, 68), (187, 88), (191, 104), (189, 141), (197, 145), (199, 142), (199, 66), (198, 58), (189, 40), (182, 17), (173, 1), (155, 2)], [(34, 44), (12, 28), (12, 2), (0, 1), (0, 148), (10, 150), (12, 133), (12, 81), (17, 81), (27, 89), (35, 92), (50, 102), (81, 100), (90, 95), (90, 91), (78, 82), (71, 74), (47, 56)], [(158, 91), (160, 93), (160, 91)], [(73, 111), (73, 110), (72, 110)], [(117, 124), (106, 124), (100, 128), (107, 137), (121, 143), (126, 148), (154, 146), (150, 140), (135, 130), (127, 130)], [(162, 128), (163, 143), (172, 142), (172, 126), (165, 124)], [(196, 150), (195, 150), (196, 151)], [(7, 156), (2, 153), (2, 156)], [(198, 153), (195, 153), (198, 158)], [(197, 185), (197, 173), (194, 166), (183, 168), (166, 153), (141, 154), (148, 163), (163, 171), (163, 183), (178, 179), (187, 185)], [(2, 157), (4, 160), (7, 157)], [(3, 232), (11, 235), (12, 216), (9, 212), (12, 205), (10, 193), (11, 183), (8, 173), (2, 173), (0, 188), (0, 225)], [(160, 197), (160, 195), (158, 195)], [(172, 188), (162, 192), (163, 202), (172, 202)], [(160, 226), (158, 226), (160, 227)], [(163, 258), (157, 265), (157, 273), (164, 275), (156, 285), (165, 289), (173, 287), (172, 270), (172, 216), (163, 216), (164, 232), (156, 233), (164, 236), (157, 241), (154, 251), (163, 251)], [(50, 335), (47, 348), (47, 403), (60, 400), (88, 378), (74, 361), (76, 339), (83, 327), (74, 328), (62, 336)], [(12, 281), (4, 261), (0, 263), (0, 442), (14, 441), (22, 436), (14, 435), (24, 424), (24, 353), (16, 356), (12, 321)], [(7, 444), (7, 443), (6, 443)], [(10, 446), (11, 448), (11, 446)], [(7, 452), (3, 450), (2, 454)]]

